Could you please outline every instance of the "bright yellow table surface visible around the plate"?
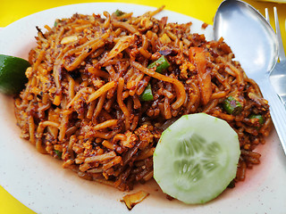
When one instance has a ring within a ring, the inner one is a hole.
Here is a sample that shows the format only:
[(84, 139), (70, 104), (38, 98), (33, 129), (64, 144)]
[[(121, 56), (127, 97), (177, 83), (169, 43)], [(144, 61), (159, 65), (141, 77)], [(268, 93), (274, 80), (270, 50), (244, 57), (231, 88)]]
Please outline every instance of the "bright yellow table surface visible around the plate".
[[(97, 0), (1, 0), (0, 4), (0, 27), (5, 27), (13, 21), (17, 21), (34, 12), (40, 12), (49, 8), (62, 6), (66, 4), (80, 4), (88, 2), (99, 2)], [(103, 1), (101, 1), (103, 2)], [(106, 2), (106, 0), (105, 0)], [(223, 1), (222, 0), (122, 0), (122, 1), (107, 1), (107, 2), (121, 2), (132, 4), (144, 4), (149, 6), (159, 7), (165, 5), (167, 10), (174, 12), (181, 12), (183, 14), (192, 16), (208, 24), (213, 24), (214, 14)], [(285, 18), (286, 18), (286, 4), (267, 3), (259, 1), (246, 0), (248, 4), (256, 7), (259, 12), (264, 14), (265, 7), (268, 8), (273, 24), (273, 6), (277, 7), (280, 25), (282, 30), (283, 43), (286, 45), (286, 32), (285, 32)], [(26, 204), (28, 205), (28, 204)], [(29, 205), (28, 205), (29, 206)], [(0, 187), (0, 213), (35, 213), (29, 210), (21, 202), (17, 201), (10, 193), (7, 193), (4, 188)]]

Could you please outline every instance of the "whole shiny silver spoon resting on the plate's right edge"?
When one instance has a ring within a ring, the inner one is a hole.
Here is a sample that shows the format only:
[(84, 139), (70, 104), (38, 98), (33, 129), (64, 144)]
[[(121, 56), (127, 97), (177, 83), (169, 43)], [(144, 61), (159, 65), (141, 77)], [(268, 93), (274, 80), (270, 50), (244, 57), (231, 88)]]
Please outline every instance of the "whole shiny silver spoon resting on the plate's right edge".
[(274, 127), (286, 153), (286, 109), (269, 81), (278, 59), (278, 42), (265, 18), (251, 5), (226, 0), (214, 16), (214, 39), (223, 37), (231, 46), (236, 60), (253, 78), (269, 102)]

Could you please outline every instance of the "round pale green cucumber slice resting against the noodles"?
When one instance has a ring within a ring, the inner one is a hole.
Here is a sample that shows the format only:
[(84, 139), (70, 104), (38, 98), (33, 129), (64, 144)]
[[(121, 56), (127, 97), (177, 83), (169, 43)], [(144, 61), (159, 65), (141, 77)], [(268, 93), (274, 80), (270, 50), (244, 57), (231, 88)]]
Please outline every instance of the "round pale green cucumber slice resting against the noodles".
[(185, 203), (217, 197), (236, 176), (237, 133), (206, 113), (182, 116), (165, 129), (154, 152), (154, 177), (164, 193)]

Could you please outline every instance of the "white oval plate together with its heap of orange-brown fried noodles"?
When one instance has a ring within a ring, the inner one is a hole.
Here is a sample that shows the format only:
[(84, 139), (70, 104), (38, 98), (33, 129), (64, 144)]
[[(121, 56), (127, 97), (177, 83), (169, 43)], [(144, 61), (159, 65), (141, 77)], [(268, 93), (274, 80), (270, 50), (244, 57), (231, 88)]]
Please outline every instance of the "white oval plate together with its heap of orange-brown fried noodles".
[[(0, 46), (31, 64), (21, 94), (0, 95), (0, 183), (30, 209), (127, 213), (122, 198), (144, 191), (130, 212), (286, 210), (286, 160), (269, 105), (231, 47), (212, 40), (212, 26), (164, 7), (72, 4), (15, 21)], [(206, 73), (193, 51), (204, 51)], [(159, 59), (168, 66), (152, 70)], [(240, 106), (226, 110), (227, 99)], [(241, 154), (229, 188), (187, 205), (162, 193), (152, 160), (164, 129), (198, 112), (226, 120)]]

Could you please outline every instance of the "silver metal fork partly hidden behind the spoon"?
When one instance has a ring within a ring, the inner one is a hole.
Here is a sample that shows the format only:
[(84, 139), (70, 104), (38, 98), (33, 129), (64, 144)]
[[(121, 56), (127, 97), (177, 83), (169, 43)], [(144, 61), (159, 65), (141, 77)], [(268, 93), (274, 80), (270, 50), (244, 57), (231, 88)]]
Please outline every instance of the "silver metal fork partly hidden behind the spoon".
[[(275, 92), (277, 93), (277, 95), (279, 95), (280, 99), (282, 100), (282, 103), (285, 106), (286, 105), (286, 57), (283, 48), (281, 30), (276, 7), (273, 7), (273, 12), (275, 20), (276, 37), (278, 39), (279, 62), (276, 63), (269, 78)], [(265, 8), (265, 19), (270, 24), (269, 13), (267, 8)]]

